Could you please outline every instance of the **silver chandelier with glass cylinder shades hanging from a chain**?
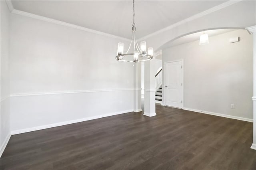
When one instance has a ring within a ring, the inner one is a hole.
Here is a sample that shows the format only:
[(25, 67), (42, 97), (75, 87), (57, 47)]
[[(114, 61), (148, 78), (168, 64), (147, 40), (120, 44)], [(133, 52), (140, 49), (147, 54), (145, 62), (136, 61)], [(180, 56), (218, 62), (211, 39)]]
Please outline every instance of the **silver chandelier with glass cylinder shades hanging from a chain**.
[[(124, 53), (124, 43), (118, 43), (118, 50), (116, 55), (117, 61), (124, 61), (124, 62), (141, 62), (141, 61), (148, 61), (153, 58), (153, 48), (148, 48), (148, 53), (146, 51), (146, 42), (140, 42), (140, 47), (138, 45), (136, 39), (136, 28), (134, 23), (134, 0), (133, 0), (133, 24), (132, 24), (132, 40), (128, 47), (126, 53)], [(133, 44), (132, 44), (133, 42)], [(131, 46), (134, 47), (134, 51), (130, 52)]]

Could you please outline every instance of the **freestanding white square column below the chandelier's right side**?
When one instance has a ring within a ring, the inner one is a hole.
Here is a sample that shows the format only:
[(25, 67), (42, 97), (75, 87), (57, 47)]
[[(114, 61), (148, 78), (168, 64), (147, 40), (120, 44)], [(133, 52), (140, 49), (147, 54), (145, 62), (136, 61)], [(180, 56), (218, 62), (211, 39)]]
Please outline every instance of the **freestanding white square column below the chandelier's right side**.
[(156, 116), (156, 79), (155, 63), (145, 61), (144, 79), (144, 114), (152, 117)]

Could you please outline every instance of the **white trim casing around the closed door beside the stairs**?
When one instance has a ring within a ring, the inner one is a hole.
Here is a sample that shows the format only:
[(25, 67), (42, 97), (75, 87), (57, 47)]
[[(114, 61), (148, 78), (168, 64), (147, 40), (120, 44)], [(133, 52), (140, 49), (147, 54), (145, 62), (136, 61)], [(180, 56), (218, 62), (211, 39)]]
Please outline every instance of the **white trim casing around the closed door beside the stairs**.
[[(181, 73), (182, 73), (182, 103), (181, 103), (181, 108), (184, 107), (184, 59), (179, 59), (179, 60), (174, 60), (174, 61), (166, 61), (164, 62), (164, 83), (166, 83), (166, 64), (167, 63), (174, 63), (174, 62), (179, 62), (181, 61), (181, 65), (182, 65), (182, 68), (181, 68)], [(165, 85), (162, 84), (162, 87), (165, 87)], [(164, 89), (164, 98), (162, 98), (162, 100), (164, 99), (164, 103), (166, 103), (166, 90)], [(168, 106), (168, 105), (166, 105)], [(172, 106), (170, 106), (172, 107)]]

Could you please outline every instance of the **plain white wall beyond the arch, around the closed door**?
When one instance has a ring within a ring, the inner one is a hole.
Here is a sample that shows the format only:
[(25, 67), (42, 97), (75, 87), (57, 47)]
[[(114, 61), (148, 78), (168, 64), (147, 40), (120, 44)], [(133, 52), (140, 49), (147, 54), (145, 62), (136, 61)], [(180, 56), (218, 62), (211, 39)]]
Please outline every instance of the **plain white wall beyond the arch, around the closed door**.
[[(228, 42), (238, 36), (240, 42)], [(163, 70), (164, 62), (184, 59), (184, 108), (252, 119), (252, 35), (236, 30), (209, 42), (163, 49)]]

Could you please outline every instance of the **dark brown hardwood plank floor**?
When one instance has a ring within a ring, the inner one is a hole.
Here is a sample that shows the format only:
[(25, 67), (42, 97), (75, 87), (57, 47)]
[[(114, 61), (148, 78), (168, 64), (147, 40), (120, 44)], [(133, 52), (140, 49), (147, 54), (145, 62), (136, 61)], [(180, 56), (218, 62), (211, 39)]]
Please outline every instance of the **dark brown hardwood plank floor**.
[(13, 135), (1, 170), (256, 170), (252, 123), (156, 105)]

